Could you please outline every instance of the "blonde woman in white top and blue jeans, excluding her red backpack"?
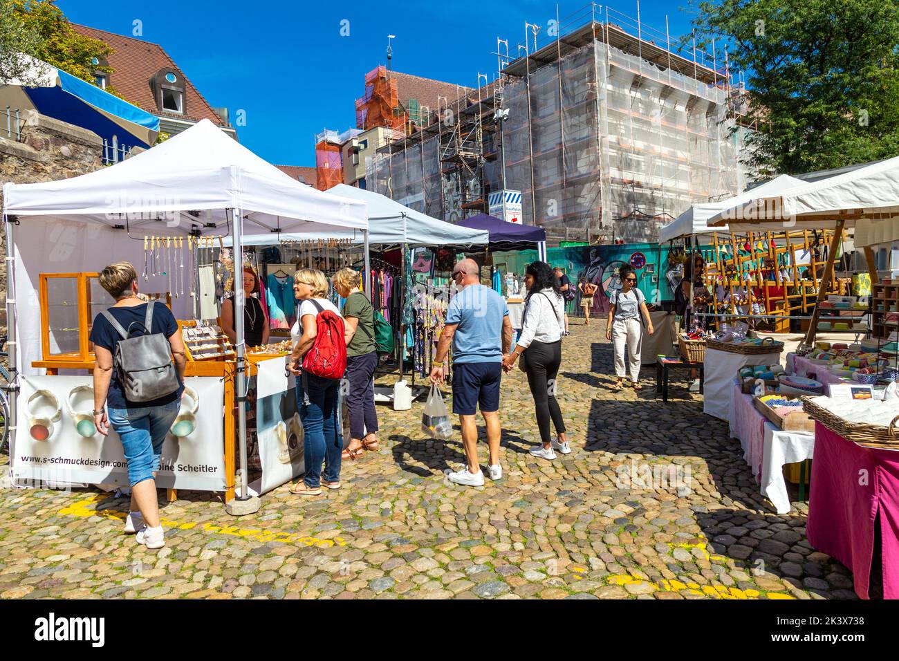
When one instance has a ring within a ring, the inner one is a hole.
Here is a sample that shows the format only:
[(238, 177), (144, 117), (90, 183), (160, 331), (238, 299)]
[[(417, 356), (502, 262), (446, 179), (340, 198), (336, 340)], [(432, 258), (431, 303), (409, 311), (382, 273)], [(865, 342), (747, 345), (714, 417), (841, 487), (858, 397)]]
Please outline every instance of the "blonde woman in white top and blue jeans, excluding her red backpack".
[(304, 375), (299, 368), (316, 341), (318, 313), (330, 310), (338, 317), (341, 314), (330, 300), (325, 299), (328, 282), (325, 280), (325, 273), (317, 269), (300, 269), (294, 277), (293, 291), (300, 303), (297, 321), (290, 329), (293, 352), (288, 360), (288, 370), (297, 376), (297, 410), (303, 422), (306, 474), (302, 482), (290, 487), (290, 493), (320, 496), (322, 487), (340, 488), (343, 451), (343, 430), (337, 424), (340, 380), (322, 379), (315, 374)]

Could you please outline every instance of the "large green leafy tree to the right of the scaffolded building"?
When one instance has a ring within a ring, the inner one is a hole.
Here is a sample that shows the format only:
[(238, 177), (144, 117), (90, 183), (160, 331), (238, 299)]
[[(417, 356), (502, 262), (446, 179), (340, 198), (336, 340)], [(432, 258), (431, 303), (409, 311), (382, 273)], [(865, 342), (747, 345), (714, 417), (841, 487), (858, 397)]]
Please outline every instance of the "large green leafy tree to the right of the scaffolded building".
[(749, 92), (746, 161), (801, 174), (899, 155), (899, 0), (701, 0)]

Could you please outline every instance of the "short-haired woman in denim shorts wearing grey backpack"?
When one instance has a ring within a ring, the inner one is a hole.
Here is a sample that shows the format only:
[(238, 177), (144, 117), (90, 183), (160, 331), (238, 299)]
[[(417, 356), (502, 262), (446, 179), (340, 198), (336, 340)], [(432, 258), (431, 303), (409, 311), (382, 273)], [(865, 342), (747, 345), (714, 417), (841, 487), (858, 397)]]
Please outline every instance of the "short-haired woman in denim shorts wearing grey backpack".
[[(165, 435), (181, 408), (187, 364), (184, 341), (178, 322), (164, 303), (147, 302), (138, 296), (134, 266), (128, 262), (111, 264), (102, 270), (99, 281), (116, 302), (93, 319), (91, 328), (96, 356), (93, 424), (103, 436), (109, 434), (110, 426), (119, 434), (128, 460), (131, 505), (125, 532), (136, 532), (138, 543), (147, 549), (160, 549), (165, 539), (155, 478)], [(121, 369), (120, 356), (129, 353), (135, 343), (140, 362), (158, 365), (157, 369), (143, 375)]]

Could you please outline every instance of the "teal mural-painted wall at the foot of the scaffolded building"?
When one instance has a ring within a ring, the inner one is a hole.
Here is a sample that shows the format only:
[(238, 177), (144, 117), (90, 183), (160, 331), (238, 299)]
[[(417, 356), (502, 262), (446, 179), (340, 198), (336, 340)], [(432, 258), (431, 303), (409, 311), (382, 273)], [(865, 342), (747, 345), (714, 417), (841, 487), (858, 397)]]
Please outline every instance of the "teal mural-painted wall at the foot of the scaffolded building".
[[(608, 246), (565, 246), (549, 248), (547, 261), (553, 266), (561, 266), (576, 288), (583, 276), (586, 281), (598, 286), (593, 296), (593, 314), (609, 311), (609, 297), (613, 290), (620, 289), (619, 269), (631, 266), (636, 272), (637, 287), (643, 291), (649, 303), (661, 303), (674, 299), (674, 289), (681, 281), (682, 264), (675, 256), (669, 264), (670, 246), (658, 244), (626, 244)], [(507, 272), (523, 276), (525, 267), (537, 259), (537, 251), (521, 250), (495, 253), (494, 264), (504, 264)], [(580, 310), (580, 294), (569, 303), (569, 314)]]

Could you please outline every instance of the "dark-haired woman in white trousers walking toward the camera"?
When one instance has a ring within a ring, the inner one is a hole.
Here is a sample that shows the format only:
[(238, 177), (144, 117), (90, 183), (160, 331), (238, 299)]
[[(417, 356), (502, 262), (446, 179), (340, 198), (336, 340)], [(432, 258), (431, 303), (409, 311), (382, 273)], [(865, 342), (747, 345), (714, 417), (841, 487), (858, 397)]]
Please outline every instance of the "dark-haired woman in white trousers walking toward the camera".
[(636, 287), (636, 271), (624, 265), (619, 269), (619, 277), (621, 289), (612, 291), (609, 300), (609, 326), (606, 327), (606, 339), (611, 340), (615, 348), (615, 376), (618, 380), (612, 389), (616, 392), (624, 388), (625, 347), (628, 348), (630, 385), (635, 390), (643, 389), (640, 385), (640, 344), (643, 342), (641, 314), (646, 320), (646, 332), (649, 335), (654, 333), (646, 299)]

